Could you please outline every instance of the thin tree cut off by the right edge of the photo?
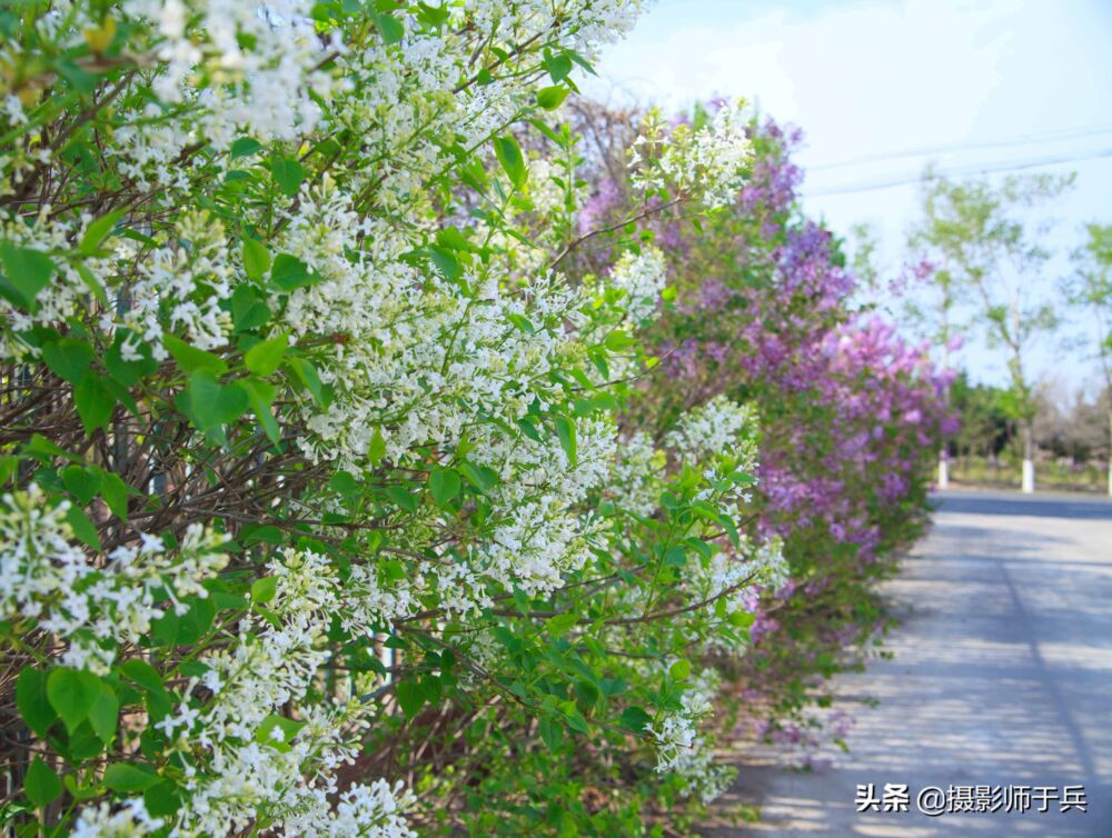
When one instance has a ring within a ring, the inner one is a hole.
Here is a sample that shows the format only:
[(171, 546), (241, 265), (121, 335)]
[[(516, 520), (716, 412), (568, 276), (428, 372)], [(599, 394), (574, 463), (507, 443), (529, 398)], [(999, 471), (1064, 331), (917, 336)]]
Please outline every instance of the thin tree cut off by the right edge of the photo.
[[(1073, 253), (1073, 276), (1066, 282), (1070, 303), (1088, 311), (1095, 329), (1096, 355), (1104, 391), (1112, 393), (1112, 225), (1086, 226), (1089, 239)], [(1109, 495), (1112, 496), (1112, 399), (1105, 399), (1109, 426)]]

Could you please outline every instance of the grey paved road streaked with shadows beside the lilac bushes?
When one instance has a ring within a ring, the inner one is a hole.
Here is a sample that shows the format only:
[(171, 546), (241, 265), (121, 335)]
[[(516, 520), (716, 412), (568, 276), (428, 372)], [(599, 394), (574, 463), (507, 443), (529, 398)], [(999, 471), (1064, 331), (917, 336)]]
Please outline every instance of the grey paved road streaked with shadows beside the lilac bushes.
[[(763, 819), (706, 836), (1112, 837), (1112, 502), (951, 491), (887, 586), (893, 660), (838, 680), (850, 754), (800, 772), (747, 756), (728, 796)], [(877, 708), (863, 704), (880, 699)], [(857, 814), (857, 784), (907, 784), (909, 814)], [(915, 811), (927, 785), (1083, 785), (1089, 812)], [(722, 821), (719, 821), (721, 824)]]

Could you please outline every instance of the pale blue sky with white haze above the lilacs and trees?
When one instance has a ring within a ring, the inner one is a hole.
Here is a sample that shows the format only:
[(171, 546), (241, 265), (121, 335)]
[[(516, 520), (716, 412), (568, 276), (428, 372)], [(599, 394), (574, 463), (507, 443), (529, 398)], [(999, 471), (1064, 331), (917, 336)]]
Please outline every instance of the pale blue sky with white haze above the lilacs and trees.
[[(930, 161), (955, 176), (1076, 171), (1054, 209), (1063, 252), (1085, 221), (1112, 223), (1112, 0), (659, 0), (598, 69), (587, 91), (604, 100), (681, 109), (744, 96), (801, 127), (807, 211), (840, 232), (872, 223), (890, 270)], [(1050, 162), (1064, 158), (1075, 159)], [(851, 191), (896, 181), (912, 182)], [(962, 360), (1002, 381), (980, 341)], [(1083, 351), (1045, 345), (1033, 367), (1095, 383)]]

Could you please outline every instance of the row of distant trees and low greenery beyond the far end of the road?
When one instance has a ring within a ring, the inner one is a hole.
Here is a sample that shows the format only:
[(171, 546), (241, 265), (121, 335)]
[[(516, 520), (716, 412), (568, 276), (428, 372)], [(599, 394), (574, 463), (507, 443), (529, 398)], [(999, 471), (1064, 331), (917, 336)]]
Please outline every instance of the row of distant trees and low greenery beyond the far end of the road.
[[(1074, 180), (1041, 173), (954, 181), (932, 169), (924, 176), (909, 267), (892, 289), (902, 319), (937, 349), (943, 369), (961, 368), (955, 353), (972, 338), (1006, 370), (1002, 386), (956, 375), (945, 398), (962, 430), (939, 452), (943, 488), (952, 457), (981, 457), (1019, 466), (1025, 492), (1035, 489), (1036, 461), (1101, 463), (1112, 495), (1112, 226), (1086, 225), (1069, 262), (1059, 259), (1065, 253), (1054, 249), (1051, 213)], [(875, 245), (867, 231), (857, 238), (855, 268), (875, 291), (867, 281), (877, 276)], [(1060, 383), (1032, 370), (1040, 345), (1064, 348), (1063, 366), (1096, 361), (1099, 383), (1064, 396)]]

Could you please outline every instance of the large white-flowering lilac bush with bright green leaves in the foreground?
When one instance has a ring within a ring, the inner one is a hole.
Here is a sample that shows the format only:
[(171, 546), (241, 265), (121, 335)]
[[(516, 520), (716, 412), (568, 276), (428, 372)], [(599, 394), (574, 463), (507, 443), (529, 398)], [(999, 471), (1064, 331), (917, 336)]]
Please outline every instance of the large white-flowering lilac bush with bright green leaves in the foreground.
[[(583, 227), (559, 108), (639, 6), (0, 12), (6, 829), (642, 835), (721, 792), (810, 472), (761, 465), (776, 385), (653, 403), (694, 289), (646, 237), (748, 217), (739, 106), (645, 120)], [(807, 427), (915, 390), (823, 346)]]

